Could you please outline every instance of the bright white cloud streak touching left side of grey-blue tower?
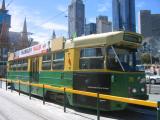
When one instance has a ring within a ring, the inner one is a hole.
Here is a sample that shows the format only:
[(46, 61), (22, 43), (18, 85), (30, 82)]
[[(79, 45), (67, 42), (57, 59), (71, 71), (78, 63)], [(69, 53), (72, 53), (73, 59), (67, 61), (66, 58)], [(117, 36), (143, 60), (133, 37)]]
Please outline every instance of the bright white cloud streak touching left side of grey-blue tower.
[(47, 23), (43, 24), (41, 27), (44, 29), (47, 29), (47, 30), (54, 29), (54, 30), (63, 30), (63, 31), (67, 32), (67, 27), (65, 25), (53, 23), (53, 22), (47, 22)]

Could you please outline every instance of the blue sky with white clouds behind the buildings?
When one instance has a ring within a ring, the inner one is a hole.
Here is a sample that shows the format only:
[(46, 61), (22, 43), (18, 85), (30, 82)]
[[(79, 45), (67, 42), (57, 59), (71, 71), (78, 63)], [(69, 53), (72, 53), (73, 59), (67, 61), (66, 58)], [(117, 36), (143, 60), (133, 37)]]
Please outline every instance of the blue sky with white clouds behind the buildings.
[[(2, 0), (1, 0), (2, 1)], [(6, 0), (6, 5), (11, 0)], [(71, 0), (13, 0), (7, 7), (12, 15), (11, 31), (22, 31), (26, 16), (28, 31), (34, 33), (36, 41), (45, 41), (51, 38), (55, 29), (57, 36), (67, 36), (68, 5)], [(112, 20), (112, 0), (84, 0), (86, 5), (86, 20), (95, 22), (98, 15), (107, 15)], [(141, 9), (160, 13), (160, 0), (136, 0), (136, 16)], [(62, 14), (62, 12), (65, 12)], [(138, 19), (138, 18), (137, 18)]]

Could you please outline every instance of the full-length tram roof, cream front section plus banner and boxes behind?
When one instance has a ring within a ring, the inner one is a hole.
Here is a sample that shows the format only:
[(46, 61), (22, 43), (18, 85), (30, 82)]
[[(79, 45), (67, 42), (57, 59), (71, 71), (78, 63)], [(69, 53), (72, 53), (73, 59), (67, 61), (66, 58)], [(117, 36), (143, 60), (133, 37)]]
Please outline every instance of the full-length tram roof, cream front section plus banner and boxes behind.
[(123, 45), (128, 45), (130, 47), (134, 46), (134, 48), (136, 48), (137, 46), (140, 45), (139, 43), (124, 41), (123, 39), (125, 33), (130, 35), (135, 35), (138, 38), (139, 37), (142, 38), (142, 36), (138, 33), (124, 32), (124, 31), (92, 34), (69, 40), (65, 40), (65, 38), (60, 37), (50, 42), (47, 41), (43, 44), (37, 44), (35, 46), (19, 50), (15, 53), (10, 53), (8, 60), (42, 54), (48, 52), (49, 49), (51, 49), (51, 51), (59, 51), (62, 49), (94, 47), (94, 46), (104, 46), (104, 45), (108, 46), (114, 44), (123, 44)]

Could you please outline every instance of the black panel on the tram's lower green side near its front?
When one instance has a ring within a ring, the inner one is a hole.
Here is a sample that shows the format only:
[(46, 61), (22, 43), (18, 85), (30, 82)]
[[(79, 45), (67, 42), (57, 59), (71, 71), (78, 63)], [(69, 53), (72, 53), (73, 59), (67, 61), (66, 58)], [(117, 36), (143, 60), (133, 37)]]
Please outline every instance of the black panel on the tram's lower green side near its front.
[[(73, 88), (80, 91), (111, 94), (110, 74), (94, 72), (75, 72)], [(96, 109), (97, 99), (82, 95), (73, 95), (74, 105)], [(110, 101), (100, 100), (101, 110), (110, 110)]]

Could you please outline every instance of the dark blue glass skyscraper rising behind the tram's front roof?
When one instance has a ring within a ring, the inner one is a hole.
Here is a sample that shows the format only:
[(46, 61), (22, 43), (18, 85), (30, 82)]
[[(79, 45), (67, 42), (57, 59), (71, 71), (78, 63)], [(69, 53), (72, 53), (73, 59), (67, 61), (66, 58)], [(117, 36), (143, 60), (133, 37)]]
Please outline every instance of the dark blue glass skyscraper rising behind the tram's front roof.
[(113, 31), (136, 32), (135, 0), (112, 0)]

